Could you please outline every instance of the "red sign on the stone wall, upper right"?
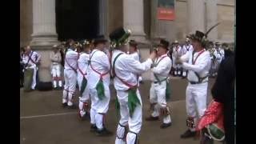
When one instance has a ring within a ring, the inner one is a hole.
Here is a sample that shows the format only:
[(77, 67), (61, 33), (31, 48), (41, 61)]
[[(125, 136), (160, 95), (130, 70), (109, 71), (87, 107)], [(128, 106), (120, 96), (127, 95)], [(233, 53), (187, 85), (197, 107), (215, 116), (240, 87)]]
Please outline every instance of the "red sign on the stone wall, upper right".
[(158, 7), (158, 19), (173, 21), (175, 19), (174, 9)]

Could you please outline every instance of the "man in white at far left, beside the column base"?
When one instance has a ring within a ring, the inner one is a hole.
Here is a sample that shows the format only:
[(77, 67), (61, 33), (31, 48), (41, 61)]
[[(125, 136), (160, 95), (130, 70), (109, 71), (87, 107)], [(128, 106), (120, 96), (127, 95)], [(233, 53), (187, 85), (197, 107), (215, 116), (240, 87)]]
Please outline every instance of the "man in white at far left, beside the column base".
[(36, 78), (37, 78), (38, 64), (40, 60), (41, 60), (41, 55), (35, 52), (34, 50), (31, 50), (30, 46), (26, 46), (26, 51), (25, 51), (25, 55), (22, 58), (22, 62), (24, 63), (25, 70), (27, 69), (33, 70), (33, 80), (31, 84), (31, 90), (34, 90), (37, 84)]

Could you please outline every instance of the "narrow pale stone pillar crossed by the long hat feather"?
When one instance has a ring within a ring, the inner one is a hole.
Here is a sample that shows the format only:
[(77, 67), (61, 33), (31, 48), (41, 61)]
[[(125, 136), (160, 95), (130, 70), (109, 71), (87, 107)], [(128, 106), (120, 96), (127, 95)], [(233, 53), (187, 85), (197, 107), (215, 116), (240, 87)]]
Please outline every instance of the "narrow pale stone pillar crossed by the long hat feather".
[[(218, 7), (217, 0), (206, 0), (206, 30), (209, 30), (211, 26), (214, 26), (218, 21)], [(218, 38), (218, 26), (210, 31), (208, 38), (212, 41), (216, 41)]]

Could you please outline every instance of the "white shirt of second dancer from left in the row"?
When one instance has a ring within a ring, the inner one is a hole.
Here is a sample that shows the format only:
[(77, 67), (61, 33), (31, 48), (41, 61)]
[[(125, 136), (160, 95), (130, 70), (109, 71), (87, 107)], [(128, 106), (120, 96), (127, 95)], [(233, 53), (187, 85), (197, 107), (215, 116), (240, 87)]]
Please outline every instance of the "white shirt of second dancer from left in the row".
[[(89, 64), (89, 57), (90, 54), (86, 53), (80, 53), (79, 59), (78, 59), (78, 74), (86, 74), (88, 71), (88, 64)], [(80, 71), (81, 70), (81, 71)], [(86, 75), (87, 76), (87, 75)]]

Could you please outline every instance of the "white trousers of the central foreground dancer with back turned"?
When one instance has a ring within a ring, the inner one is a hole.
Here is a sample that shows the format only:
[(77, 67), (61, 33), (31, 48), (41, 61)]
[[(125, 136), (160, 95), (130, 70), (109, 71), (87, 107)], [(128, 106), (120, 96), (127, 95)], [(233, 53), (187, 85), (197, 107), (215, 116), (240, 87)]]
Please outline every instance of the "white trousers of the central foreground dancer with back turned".
[[(132, 115), (132, 118), (130, 118), (130, 113), (128, 108), (128, 92), (117, 90), (118, 102), (120, 104), (121, 118), (118, 123), (117, 137), (115, 139), (115, 144), (122, 144), (122, 143), (134, 144), (136, 141), (136, 138), (138, 138), (138, 134), (142, 128), (142, 98), (138, 90), (136, 93), (139, 101), (141, 102), (141, 105), (137, 105)], [(124, 142), (125, 127), (123, 126), (127, 126), (127, 124), (129, 127), (129, 132), (126, 135), (126, 142)]]

